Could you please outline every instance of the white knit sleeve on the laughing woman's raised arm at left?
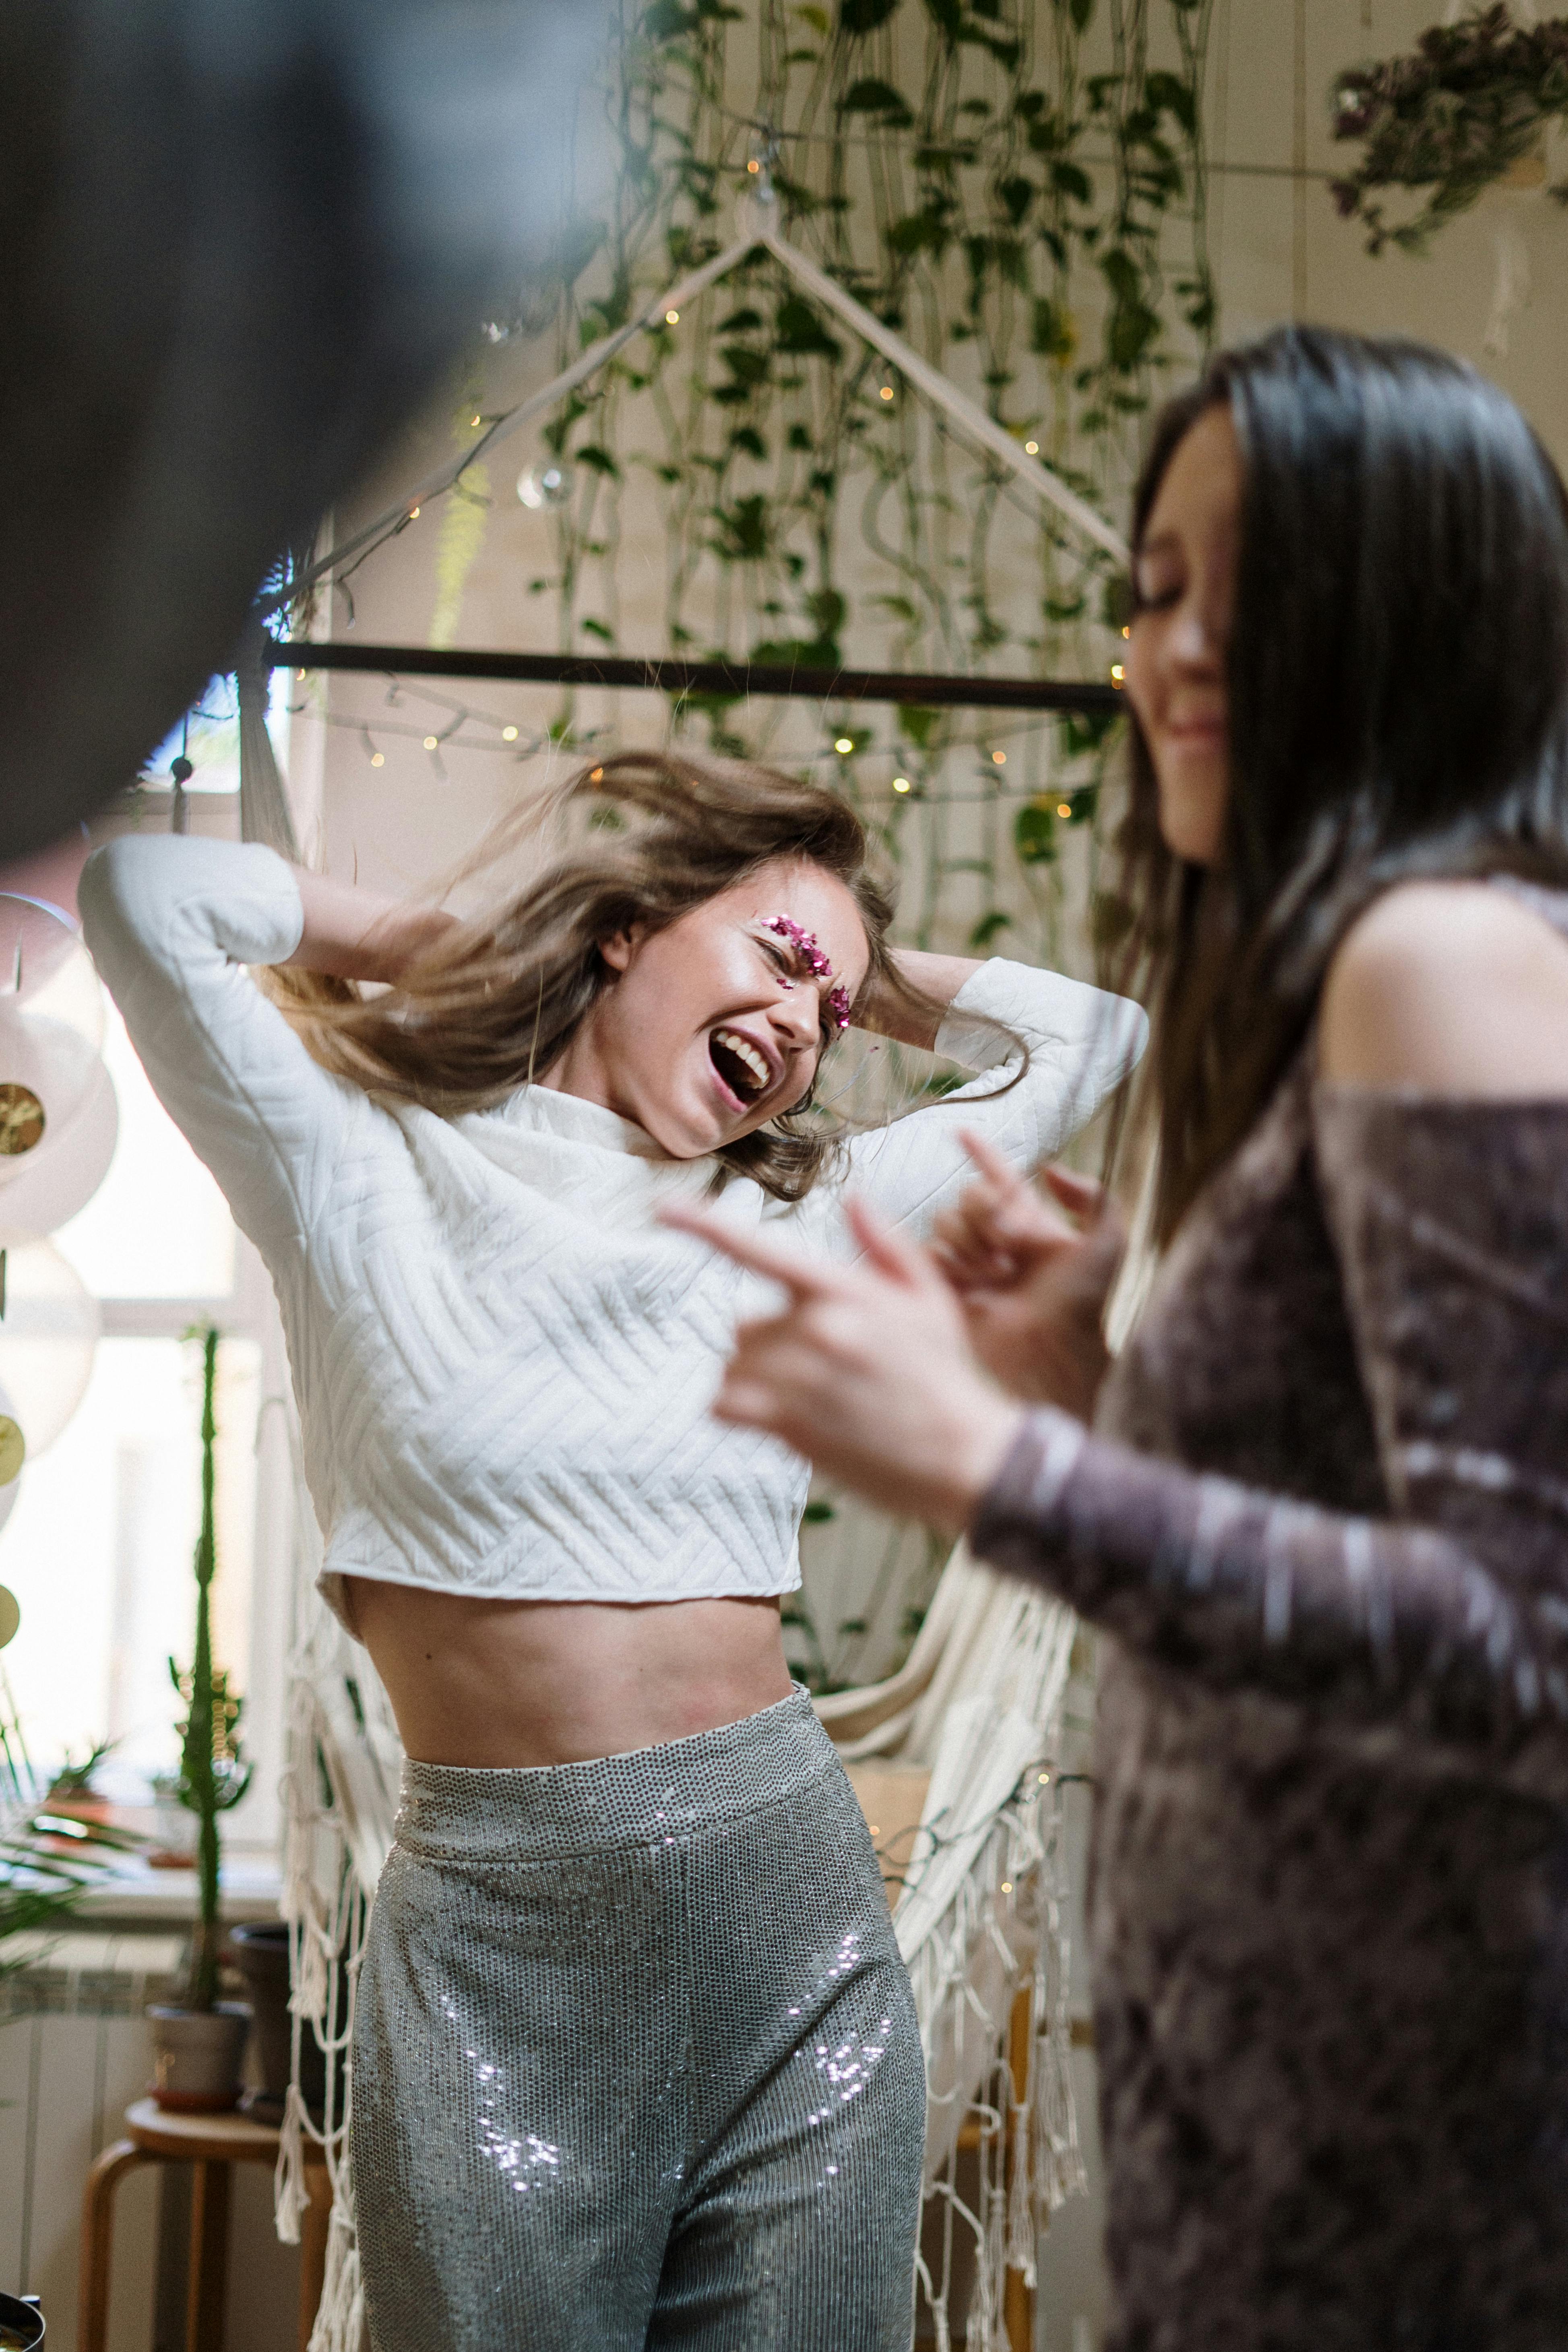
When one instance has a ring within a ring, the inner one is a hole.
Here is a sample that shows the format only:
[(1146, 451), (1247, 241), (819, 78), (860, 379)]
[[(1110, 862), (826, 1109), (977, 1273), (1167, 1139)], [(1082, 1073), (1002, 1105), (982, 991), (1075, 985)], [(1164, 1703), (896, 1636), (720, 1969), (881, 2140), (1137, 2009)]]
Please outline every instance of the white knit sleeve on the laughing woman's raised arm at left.
[(299, 946), (299, 887), (273, 849), (127, 835), (94, 851), (82, 934), (160, 1103), (266, 1254), (308, 1232), (353, 1103), (242, 969)]

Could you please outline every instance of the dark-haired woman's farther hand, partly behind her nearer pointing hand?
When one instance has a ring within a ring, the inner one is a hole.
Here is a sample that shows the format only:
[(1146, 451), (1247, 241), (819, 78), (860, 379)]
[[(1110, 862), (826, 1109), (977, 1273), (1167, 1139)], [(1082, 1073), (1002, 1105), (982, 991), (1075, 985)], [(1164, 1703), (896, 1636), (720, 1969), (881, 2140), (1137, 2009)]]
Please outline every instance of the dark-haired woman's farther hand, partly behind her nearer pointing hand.
[(931, 1254), (969, 1345), (1016, 1397), (1088, 1421), (1110, 1364), (1103, 1322), (1126, 1249), (1121, 1211), (1072, 1169), (1041, 1171), (1060, 1204), (1051, 1207), (985, 1136), (964, 1129), (964, 1148), (980, 1181), (938, 1216)]

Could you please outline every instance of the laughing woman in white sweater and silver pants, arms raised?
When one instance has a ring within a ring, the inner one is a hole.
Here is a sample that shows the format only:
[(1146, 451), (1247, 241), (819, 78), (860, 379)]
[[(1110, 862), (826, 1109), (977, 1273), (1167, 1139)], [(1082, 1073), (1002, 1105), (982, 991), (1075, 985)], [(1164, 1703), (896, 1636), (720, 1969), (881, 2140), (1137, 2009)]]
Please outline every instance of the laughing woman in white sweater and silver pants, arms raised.
[[(922, 1230), (966, 1115), (1056, 1148), (1143, 1016), (893, 950), (858, 816), (778, 769), (625, 753), (522, 830), (468, 922), (228, 842), (80, 891), (277, 1287), (322, 1590), (409, 1755), (355, 1997), (371, 2343), (903, 2352), (919, 2025), (783, 1656), (806, 1468), (712, 1428), (736, 1275), (656, 1211), (823, 1230), (844, 1160)], [(851, 1021), (987, 1075), (835, 1141)]]

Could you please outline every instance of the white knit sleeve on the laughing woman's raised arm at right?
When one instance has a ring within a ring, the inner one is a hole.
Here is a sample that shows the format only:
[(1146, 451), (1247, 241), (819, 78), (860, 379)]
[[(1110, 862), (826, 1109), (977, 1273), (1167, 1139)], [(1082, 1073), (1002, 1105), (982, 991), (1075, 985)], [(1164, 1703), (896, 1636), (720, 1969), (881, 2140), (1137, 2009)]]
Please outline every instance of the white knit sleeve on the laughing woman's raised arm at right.
[[(1001, 1021), (1030, 1051), (1030, 1068), (1006, 1091), (1020, 1056), (987, 1021)], [(978, 1075), (891, 1127), (856, 1136), (849, 1183), (919, 1232), (973, 1181), (959, 1127), (978, 1127), (997, 1150), (1032, 1169), (1093, 1117), (1138, 1063), (1147, 1035), (1150, 1023), (1128, 997), (992, 957), (957, 993), (936, 1040), (938, 1054)]]

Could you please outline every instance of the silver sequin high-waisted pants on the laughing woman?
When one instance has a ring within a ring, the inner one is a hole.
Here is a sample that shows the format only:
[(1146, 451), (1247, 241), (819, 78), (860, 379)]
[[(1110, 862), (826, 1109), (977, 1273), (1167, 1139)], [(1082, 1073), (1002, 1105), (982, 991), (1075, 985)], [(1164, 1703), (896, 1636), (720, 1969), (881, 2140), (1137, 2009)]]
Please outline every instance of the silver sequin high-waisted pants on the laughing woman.
[(353, 2056), (376, 2352), (907, 2352), (919, 2027), (804, 1691), (407, 1764)]

